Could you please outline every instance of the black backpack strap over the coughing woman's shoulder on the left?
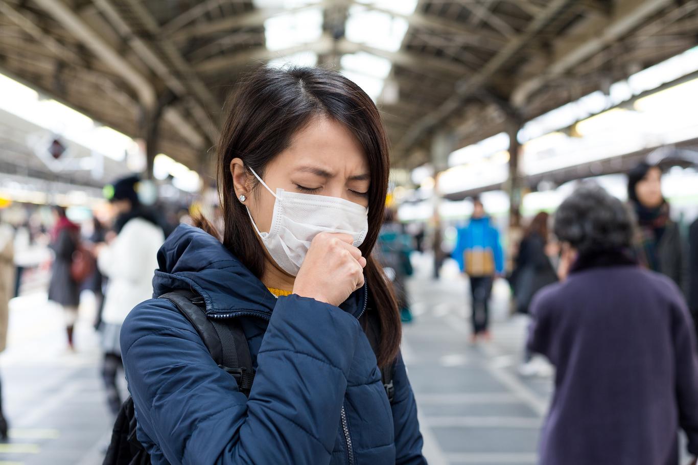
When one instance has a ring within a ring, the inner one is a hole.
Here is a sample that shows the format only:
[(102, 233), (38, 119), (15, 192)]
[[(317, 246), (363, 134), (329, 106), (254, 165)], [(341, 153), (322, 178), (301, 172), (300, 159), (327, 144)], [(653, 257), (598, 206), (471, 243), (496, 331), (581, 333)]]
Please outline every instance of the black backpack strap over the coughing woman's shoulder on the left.
[(235, 378), (240, 392), (249, 395), (255, 374), (247, 338), (237, 321), (229, 319), (225, 324), (206, 316), (203, 298), (191, 290), (174, 290), (160, 298), (170, 300), (179, 309), (199, 334), (218, 367)]

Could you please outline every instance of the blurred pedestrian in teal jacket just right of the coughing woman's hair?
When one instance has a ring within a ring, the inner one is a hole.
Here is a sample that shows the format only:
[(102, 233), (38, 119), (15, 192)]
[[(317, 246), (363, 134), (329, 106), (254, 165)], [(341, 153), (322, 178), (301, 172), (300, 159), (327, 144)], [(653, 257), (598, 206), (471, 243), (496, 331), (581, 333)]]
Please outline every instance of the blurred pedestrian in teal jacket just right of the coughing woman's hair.
[(395, 211), (385, 209), (383, 226), (378, 235), (378, 254), (380, 265), (383, 266), (385, 275), (392, 281), (393, 290), (400, 309), (400, 318), (403, 323), (412, 321), (409, 295), (405, 280), (413, 274), (410, 253), (412, 252), (412, 237), (402, 231), (400, 223), (396, 219)]

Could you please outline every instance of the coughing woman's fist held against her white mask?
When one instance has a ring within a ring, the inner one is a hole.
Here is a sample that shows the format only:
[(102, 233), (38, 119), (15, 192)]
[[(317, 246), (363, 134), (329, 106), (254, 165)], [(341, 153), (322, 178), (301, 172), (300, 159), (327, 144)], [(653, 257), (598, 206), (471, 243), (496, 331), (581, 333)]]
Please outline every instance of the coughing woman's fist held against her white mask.
[(348, 234), (320, 232), (313, 239), (293, 284), (293, 293), (339, 306), (364, 286), (366, 258)]

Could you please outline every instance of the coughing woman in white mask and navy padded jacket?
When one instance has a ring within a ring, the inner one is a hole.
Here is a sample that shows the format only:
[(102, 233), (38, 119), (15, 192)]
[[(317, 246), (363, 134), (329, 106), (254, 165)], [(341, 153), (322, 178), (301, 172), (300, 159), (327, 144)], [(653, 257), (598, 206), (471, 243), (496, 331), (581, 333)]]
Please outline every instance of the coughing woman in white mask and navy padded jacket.
[[(221, 239), (203, 220), (179, 226), (154, 297), (194, 290), (209, 318), (237, 318), (255, 380), (246, 397), (170, 301), (142, 302), (121, 330), (138, 441), (155, 465), (426, 464), (371, 256), (389, 175), (376, 105), (339, 73), (260, 68), (230, 108)], [(392, 403), (379, 367), (394, 370)]]

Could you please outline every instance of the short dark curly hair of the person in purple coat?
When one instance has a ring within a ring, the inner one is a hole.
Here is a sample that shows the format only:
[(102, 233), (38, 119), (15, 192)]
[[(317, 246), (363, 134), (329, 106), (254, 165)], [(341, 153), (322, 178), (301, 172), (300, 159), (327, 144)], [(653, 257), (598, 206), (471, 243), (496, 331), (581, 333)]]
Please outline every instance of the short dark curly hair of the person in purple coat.
[(582, 186), (555, 214), (555, 235), (580, 255), (630, 248), (632, 215), (621, 200), (599, 186)]

